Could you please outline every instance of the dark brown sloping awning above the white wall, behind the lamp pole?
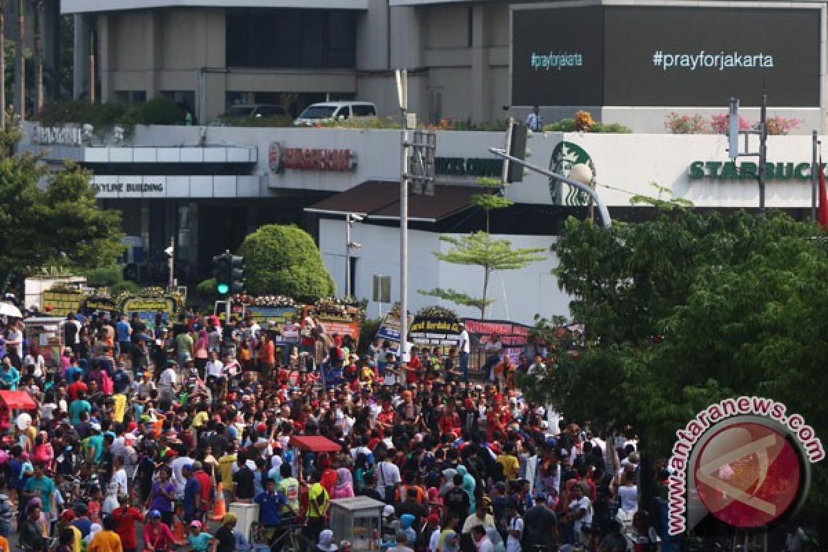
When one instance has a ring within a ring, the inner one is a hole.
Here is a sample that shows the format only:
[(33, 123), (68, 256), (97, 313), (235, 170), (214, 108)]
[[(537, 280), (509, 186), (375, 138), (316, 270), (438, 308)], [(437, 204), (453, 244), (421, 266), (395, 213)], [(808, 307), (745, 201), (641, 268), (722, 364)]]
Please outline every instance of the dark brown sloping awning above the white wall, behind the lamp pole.
[[(471, 206), (471, 196), (483, 191), (477, 186), (436, 185), (434, 195), (410, 194), (408, 219), (413, 222), (436, 223)], [(323, 199), (305, 209), (308, 213), (361, 214), (374, 219), (399, 220), (400, 183), (368, 180)]]

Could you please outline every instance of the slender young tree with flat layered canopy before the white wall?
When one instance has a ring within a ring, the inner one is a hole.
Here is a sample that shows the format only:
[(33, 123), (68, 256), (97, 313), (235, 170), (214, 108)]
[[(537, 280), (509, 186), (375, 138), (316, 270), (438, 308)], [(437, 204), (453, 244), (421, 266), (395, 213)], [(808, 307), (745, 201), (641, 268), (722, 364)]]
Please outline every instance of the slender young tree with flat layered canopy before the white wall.
[(438, 297), (457, 305), (475, 307), (480, 310), (480, 318), (485, 318), (486, 307), (494, 302), (487, 298), (489, 279), (493, 272), (519, 270), (532, 262), (546, 258), (538, 254), (544, 252), (542, 247), (514, 248), (508, 239), (495, 239), (486, 232), (474, 232), (457, 238), (440, 236), (440, 241), (454, 246), (445, 253), (434, 252), (434, 256), (440, 261), (455, 265), (479, 266), (483, 269), (483, 295), (474, 297), (462, 291), (441, 288), (430, 291), (419, 290), (419, 293)]

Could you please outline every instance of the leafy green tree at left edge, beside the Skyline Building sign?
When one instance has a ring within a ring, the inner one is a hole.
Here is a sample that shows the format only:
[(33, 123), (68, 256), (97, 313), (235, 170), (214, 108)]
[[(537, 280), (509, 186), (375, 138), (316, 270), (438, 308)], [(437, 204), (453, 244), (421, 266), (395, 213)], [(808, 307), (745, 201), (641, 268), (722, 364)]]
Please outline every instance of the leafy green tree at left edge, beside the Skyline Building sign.
[(118, 211), (98, 208), (79, 166), (53, 173), (35, 156), (0, 158), (0, 277), (41, 266), (111, 266), (123, 252), (120, 223)]

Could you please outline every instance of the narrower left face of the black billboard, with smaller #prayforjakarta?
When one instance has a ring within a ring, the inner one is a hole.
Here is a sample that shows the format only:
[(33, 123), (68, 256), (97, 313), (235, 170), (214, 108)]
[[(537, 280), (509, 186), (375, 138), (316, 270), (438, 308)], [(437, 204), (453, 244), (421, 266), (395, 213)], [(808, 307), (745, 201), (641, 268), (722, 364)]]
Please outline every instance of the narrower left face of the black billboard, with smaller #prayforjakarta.
[(601, 105), (601, 7), (515, 10), (512, 23), (513, 105)]

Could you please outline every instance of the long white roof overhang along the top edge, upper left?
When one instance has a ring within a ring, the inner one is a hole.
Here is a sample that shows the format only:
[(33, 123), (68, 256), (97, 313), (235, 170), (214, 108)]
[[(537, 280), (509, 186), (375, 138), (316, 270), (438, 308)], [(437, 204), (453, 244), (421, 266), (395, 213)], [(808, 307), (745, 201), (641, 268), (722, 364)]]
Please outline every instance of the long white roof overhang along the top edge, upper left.
[(60, 0), (61, 13), (116, 12), (159, 7), (296, 7), (367, 10), (368, 0)]

